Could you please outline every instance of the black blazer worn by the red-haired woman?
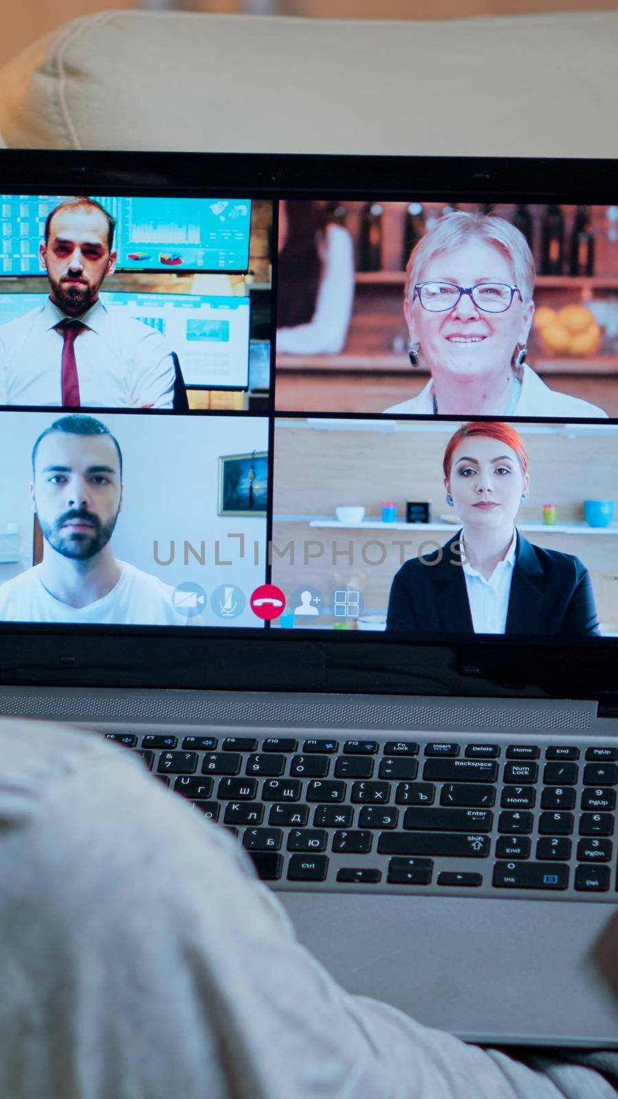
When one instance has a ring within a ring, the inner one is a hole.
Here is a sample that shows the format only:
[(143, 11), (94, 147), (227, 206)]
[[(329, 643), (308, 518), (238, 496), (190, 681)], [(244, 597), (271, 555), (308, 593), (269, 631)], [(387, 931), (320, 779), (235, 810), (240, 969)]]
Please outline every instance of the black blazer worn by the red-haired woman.
[[(474, 632), (465, 575), (457, 564), (461, 535), (459, 531), (442, 547), (440, 560), (435, 551), (401, 566), (390, 586), (388, 631)], [(505, 633), (574, 637), (598, 632), (587, 568), (571, 554), (533, 546), (518, 531)]]

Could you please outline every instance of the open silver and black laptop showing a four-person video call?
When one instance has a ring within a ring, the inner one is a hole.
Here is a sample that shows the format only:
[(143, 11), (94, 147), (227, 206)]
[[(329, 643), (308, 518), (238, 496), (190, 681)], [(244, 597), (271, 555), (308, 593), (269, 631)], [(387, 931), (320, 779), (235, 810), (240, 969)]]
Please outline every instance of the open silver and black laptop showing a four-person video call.
[(350, 992), (617, 1048), (617, 164), (0, 171), (0, 712), (139, 754)]

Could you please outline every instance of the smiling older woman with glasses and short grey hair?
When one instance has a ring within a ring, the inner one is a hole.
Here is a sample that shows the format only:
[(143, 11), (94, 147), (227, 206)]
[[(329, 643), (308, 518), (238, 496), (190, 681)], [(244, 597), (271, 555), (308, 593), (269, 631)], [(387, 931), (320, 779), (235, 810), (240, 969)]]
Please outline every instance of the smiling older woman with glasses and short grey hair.
[(431, 379), (386, 412), (605, 418), (527, 365), (533, 290), (532, 253), (515, 225), (464, 211), (440, 218), (412, 248), (404, 296), (410, 363)]

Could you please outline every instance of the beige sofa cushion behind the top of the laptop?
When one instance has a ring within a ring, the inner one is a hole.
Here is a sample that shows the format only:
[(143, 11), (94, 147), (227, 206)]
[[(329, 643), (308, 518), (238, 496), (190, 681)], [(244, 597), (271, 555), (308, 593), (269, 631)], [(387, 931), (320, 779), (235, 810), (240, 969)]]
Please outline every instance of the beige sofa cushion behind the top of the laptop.
[(10, 146), (616, 156), (618, 11), (375, 22), (110, 11), (0, 71)]

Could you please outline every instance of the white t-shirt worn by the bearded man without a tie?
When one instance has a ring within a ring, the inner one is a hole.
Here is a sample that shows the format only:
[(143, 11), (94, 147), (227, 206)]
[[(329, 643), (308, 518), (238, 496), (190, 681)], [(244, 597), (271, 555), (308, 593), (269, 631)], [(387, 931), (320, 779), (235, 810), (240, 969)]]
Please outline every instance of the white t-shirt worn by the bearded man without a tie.
[(69, 625), (186, 625), (174, 610), (174, 588), (119, 560), (118, 584), (87, 607), (69, 607), (49, 595), (34, 565), (0, 586), (0, 622), (65, 622)]

